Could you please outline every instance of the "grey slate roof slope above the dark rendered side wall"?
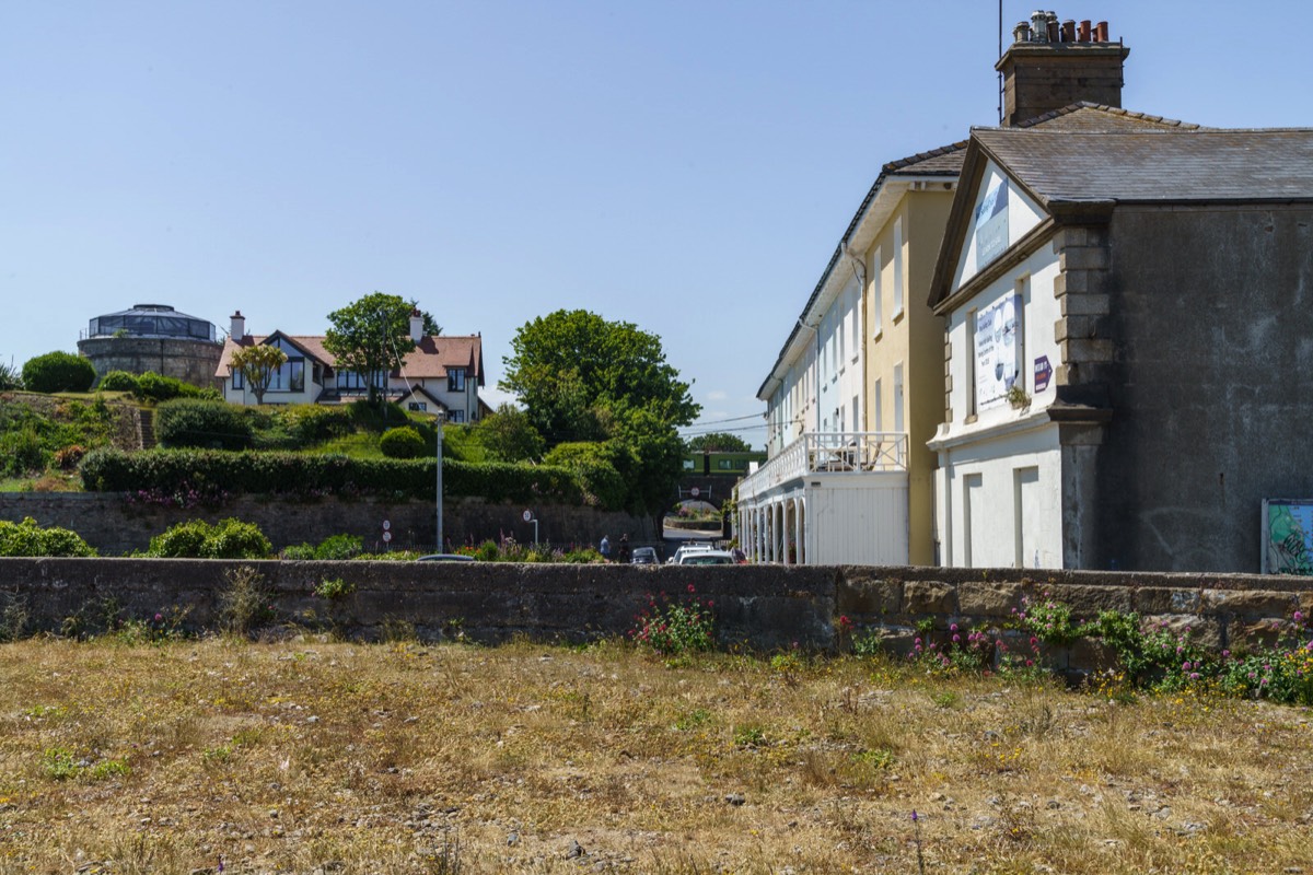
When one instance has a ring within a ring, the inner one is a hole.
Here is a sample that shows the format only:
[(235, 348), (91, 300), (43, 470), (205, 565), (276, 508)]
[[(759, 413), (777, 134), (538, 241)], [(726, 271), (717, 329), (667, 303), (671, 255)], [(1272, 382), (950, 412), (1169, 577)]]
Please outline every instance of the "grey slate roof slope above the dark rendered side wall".
[(1313, 129), (977, 129), (1041, 203), (1313, 199)]

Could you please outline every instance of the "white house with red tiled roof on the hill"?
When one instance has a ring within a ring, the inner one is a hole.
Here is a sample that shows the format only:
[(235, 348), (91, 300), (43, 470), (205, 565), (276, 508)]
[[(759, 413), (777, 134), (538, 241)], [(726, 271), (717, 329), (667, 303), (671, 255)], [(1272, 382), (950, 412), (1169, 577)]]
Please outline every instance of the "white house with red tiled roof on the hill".
[[(484, 384), (483, 337), (425, 335), (424, 317), (418, 310), (411, 314), (410, 329), (415, 349), (379, 387), (387, 399), (410, 411), (444, 413), (448, 422), (482, 418), (488, 409), (479, 400), (479, 387)], [(256, 403), (255, 392), (232, 369), (232, 354), (256, 345), (276, 346), (288, 357), (269, 383), (265, 404), (340, 404), (369, 394), (368, 376), (337, 367), (337, 358), (324, 348), (322, 335), (282, 331), (248, 335), (246, 317), (238, 311), (215, 371), (223, 397), (232, 404)]]

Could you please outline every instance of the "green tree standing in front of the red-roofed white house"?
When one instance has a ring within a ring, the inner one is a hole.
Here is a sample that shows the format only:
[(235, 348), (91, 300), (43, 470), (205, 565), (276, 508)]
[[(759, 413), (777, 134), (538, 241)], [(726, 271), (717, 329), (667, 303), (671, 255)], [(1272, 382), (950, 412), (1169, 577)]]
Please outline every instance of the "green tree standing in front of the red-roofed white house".
[(415, 349), (410, 336), (414, 304), (398, 295), (376, 291), (328, 314), (331, 327), (324, 349), (337, 359), (337, 370), (355, 371), (369, 384), (369, 403), (378, 400), (387, 375), (400, 369)]

